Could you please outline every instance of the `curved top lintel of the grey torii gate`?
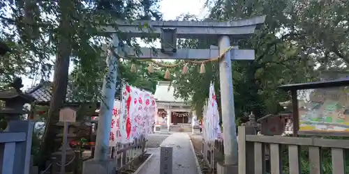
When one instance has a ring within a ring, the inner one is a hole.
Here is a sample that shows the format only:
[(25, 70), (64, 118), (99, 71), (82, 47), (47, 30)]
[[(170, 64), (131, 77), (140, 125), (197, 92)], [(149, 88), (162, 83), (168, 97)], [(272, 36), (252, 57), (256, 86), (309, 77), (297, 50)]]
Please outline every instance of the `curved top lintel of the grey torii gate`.
[[(193, 22), (193, 21), (134, 21), (119, 22), (118, 30), (127, 33), (128, 37), (160, 37), (162, 29), (177, 29), (177, 38), (207, 38), (228, 35), (230, 38), (247, 38), (253, 35), (265, 22), (265, 15), (250, 19), (239, 19), (230, 22)], [(140, 29), (149, 26), (149, 29)], [(149, 30), (149, 32), (147, 32)], [(103, 28), (104, 32), (114, 33), (113, 26)]]

